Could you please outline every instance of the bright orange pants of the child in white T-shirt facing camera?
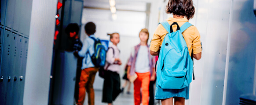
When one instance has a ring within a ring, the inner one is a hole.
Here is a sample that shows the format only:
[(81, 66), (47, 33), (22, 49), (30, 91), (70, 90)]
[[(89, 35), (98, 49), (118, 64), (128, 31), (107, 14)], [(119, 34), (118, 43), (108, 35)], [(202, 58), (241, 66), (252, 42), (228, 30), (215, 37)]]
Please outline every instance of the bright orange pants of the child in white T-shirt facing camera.
[[(150, 72), (136, 73), (137, 79), (133, 82), (134, 84), (134, 105), (148, 105), (149, 103), (149, 83), (150, 83)], [(142, 88), (142, 98), (140, 98), (140, 88)], [(141, 101), (142, 99), (142, 101)]]

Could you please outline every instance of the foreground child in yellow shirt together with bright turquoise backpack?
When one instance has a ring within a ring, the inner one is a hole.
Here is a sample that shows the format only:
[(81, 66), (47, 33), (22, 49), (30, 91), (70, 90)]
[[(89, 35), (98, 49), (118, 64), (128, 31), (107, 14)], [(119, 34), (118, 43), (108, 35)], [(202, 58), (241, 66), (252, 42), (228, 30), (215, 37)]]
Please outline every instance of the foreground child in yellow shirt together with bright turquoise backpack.
[(192, 81), (191, 58), (201, 59), (202, 51), (199, 31), (188, 23), (195, 13), (193, 1), (169, 0), (166, 13), (173, 18), (157, 26), (150, 43), (150, 54), (159, 54), (155, 99), (162, 105), (172, 105), (173, 99), (175, 105), (185, 105)]

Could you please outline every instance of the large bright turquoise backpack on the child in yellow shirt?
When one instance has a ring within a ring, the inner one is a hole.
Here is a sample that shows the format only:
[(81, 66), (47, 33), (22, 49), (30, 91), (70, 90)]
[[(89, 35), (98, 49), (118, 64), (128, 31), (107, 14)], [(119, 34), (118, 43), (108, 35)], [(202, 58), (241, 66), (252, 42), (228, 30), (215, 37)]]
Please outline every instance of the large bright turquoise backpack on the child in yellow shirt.
[(182, 89), (188, 87), (192, 81), (193, 61), (190, 57), (187, 43), (182, 32), (192, 26), (186, 22), (173, 32), (172, 25), (167, 21), (161, 22), (168, 34), (162, 42), (157, 62), (157, 84), (162, 89)]

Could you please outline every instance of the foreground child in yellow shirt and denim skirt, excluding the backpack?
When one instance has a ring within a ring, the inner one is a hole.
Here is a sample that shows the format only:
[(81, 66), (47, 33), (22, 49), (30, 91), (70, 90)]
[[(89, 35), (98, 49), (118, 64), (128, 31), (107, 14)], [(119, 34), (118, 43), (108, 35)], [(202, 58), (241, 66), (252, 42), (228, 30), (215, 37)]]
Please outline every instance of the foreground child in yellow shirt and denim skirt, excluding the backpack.
[[(178, 26), (181, 27), (183, 24), (188, 22), (189, 19), (193, 18), (195, 13), (193, 1), (169, 0), (166, 7), (166, 13), (173, 14), (173, 18), (168, 18), (166, 21), (169, 25), (172, 25), (174, 22), (176, 22), (178, 25), (174, 25), (171, 28), (173, 28), (173, 31), (177, 31), (176, 28), (179, 29)], [(168, 31), (166, 31), (163, 25), (159, 24), (151, 40), (151, 55), (157, 55), (157, 51), (161, 47), (166, 34), (168, 34)], [(195, 26), (190, 26), (182, 33), (182, 35), (187, 44), (187, 49), (190, 56), (193, 53), (193, 57), (195, 59), (201, 59), (201, 41), (197, 28)], [(168, 45), (168, 43), (165, 45)], [(185, 105), (185, 99), (189, 99), (189, 86), (181, 89), (162, 89), (158, 84), (156, 84), (155, 94), (155, 99), (161, 100), (162, 105), (172, 105), (173, 98), (175, 105)]]

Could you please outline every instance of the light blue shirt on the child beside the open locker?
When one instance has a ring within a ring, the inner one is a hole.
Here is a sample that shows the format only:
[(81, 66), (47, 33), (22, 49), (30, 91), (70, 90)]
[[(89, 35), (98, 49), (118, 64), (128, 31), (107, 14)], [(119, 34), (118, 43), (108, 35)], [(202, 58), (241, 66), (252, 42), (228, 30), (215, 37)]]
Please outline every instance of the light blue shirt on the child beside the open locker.
[(90, 37), (94, 37), (95, 35), (90, 35), (88, 38), (84, 39), (84, 44), (82, 49), (78, 52), (78, 55), (84, 57), (82, 70), (89, 67), (95, 67), (94, 64), (91, 62), (91, 56), (94, 54), (94, 40)]

